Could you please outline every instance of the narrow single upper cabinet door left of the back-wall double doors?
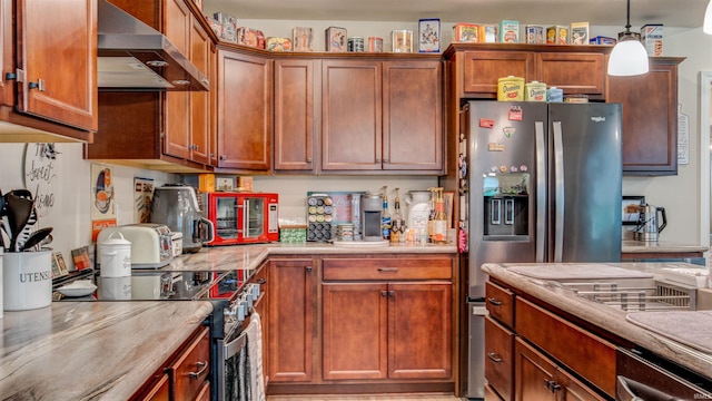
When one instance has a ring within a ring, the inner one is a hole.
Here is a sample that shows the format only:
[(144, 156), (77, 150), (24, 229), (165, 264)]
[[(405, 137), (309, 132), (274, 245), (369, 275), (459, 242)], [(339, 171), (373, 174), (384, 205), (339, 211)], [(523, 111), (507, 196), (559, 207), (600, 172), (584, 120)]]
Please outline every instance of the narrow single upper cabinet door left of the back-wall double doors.
[(275, 61), (275, 169), (314, 168), (314, 60)]

